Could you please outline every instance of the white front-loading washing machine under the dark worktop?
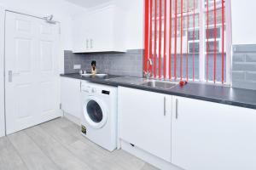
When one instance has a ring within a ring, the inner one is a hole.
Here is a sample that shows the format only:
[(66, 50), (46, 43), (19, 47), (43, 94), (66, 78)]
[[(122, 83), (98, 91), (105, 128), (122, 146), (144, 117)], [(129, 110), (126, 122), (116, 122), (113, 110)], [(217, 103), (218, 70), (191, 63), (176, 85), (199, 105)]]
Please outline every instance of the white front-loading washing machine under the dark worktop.
[(82, 82), (81, 133), (102, 148), (117, 148), (117, 88)]

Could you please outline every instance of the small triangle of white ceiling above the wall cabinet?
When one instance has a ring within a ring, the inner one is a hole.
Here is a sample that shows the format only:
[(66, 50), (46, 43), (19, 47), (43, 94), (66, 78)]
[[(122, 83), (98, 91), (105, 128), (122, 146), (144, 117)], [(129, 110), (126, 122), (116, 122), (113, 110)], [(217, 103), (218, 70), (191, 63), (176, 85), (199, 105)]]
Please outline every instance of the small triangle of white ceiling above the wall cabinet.
[(66, 0), (69, 3), (74, 3), (84, 8), (92, 8), (102, 3), (108, 3), (111, 0)]

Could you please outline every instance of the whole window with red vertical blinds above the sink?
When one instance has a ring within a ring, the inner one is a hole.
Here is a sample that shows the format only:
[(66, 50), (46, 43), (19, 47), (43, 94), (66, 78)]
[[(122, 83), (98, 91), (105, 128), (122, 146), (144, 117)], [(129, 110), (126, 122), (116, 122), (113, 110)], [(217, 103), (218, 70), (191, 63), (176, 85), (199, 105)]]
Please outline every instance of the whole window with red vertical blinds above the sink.
[(145, 0), (145, 7), (144, 67), (152, 59), (152, 77), (226, 83), (224, 0)]

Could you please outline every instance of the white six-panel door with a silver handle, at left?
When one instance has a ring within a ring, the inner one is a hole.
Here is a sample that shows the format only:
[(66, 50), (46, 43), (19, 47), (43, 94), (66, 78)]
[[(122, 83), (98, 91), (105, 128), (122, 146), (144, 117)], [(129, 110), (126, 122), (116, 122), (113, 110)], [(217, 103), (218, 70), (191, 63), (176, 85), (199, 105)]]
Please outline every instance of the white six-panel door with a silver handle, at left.
[(25, 14), (6, 13), (6, 132), (60, 116), (58, 25)]

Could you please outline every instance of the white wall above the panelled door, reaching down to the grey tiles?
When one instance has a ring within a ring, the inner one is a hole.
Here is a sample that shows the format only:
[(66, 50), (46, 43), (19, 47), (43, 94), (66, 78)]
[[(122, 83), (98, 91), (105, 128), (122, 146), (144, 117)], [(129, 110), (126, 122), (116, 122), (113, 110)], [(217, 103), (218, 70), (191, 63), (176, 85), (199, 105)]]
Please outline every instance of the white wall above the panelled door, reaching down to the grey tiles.
[(20, 11), (44, 17), (54, 14), (54, 20), (61, 22), (61, 46), (63, 49), (72, 49), (71, 19), (74, 15), (84, 12), (85, 9), (64, 0), (0, 0), (0, 5), (9, 10)]

